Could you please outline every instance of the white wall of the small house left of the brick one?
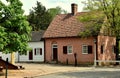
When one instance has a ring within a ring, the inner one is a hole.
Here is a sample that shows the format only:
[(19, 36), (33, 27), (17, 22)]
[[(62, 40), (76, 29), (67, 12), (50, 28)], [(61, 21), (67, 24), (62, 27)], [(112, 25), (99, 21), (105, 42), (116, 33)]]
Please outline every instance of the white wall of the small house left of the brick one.
[[(27, 55), (19, 55), (18, 52), (15, 53), (15, 61), (16, 62), (43, 62), (44, 61), (44, 42), (29, 42), (29, 47), (33, 49), (33, 60), (29, 60), (29, 52), (27, 52)], [(42, 48), (42, 55), (35, 55), (34, 49), (35, 48)], [(11, 60), (11, 54), (3, 54), (0, 52), (0, 56), (3, 60), (6, 60), (6, 58)]]

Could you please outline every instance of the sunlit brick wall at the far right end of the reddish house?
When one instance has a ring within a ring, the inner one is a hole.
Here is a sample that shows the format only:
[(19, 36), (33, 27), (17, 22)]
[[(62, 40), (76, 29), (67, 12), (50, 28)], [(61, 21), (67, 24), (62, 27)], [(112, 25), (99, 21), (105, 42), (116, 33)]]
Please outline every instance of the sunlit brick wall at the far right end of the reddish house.
[[(98, 36), (98, 59), (99, 60), (115, 60), (113, 46), (116, 45), (116, 38), (109, 36)], [(101, 45), (104, 51), (101, 52)]]

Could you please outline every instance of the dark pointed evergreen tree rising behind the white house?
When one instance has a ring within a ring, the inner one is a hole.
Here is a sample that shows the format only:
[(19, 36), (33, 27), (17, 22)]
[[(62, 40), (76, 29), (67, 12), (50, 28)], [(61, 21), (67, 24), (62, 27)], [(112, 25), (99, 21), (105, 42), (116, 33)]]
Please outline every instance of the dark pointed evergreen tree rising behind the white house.
[(33, 31), (45, 30), (50, 23), (50, 15), (45, 6), (37, 1), (37, 7), (33, 7), (28, 15), (28, 21)]

